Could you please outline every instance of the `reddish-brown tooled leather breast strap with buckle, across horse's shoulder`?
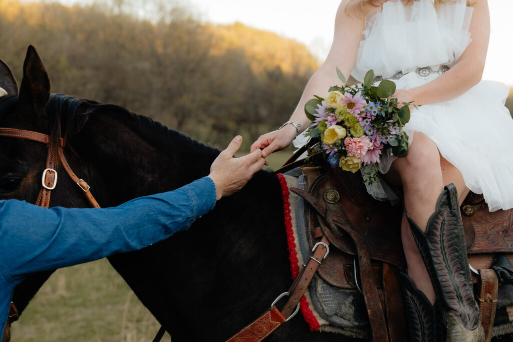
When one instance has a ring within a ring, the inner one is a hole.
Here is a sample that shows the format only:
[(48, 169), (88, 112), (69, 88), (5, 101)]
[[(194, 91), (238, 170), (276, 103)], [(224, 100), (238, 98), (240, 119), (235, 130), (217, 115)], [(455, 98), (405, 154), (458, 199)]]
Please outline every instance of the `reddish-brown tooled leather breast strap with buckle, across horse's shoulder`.
[(298, 307), (299, 301), (308, 288), (308, 284), (310, 284), (315, 271), (317, 271), (322, 260), (326, 257), (329, 248), (328, 246), (328, 239), (325, 236), (322, 236), (317, 248), (310, 253), (305, 264), (303, 264), (303, 267), (299, 271), (298, 276), (294, 279), (292, 286), (288, 290), (289, 299), (287, 300), (287, 303), (285, 303), (281, 312), (278, 311), (275, 306), (272, 306), (262, 316), (257, 318), (257, 320), (253, 321), (253, 323), (228, 339), (228, 342), (259, 342), (269, 336), (270, 333), (285, 323), (288, 319), (292, 318), (292, 311)]

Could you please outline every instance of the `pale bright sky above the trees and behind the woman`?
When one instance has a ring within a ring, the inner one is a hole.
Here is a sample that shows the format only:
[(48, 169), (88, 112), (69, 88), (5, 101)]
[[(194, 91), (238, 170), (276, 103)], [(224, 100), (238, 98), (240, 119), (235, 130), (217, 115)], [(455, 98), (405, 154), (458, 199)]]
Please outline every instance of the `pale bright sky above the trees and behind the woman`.
[[(60, 0), (65, 4), (92, 0)], [(334, 17), (340, 0), (177, 0), (192, 5), (204, 21), (243, 23), (304, 43), (321, 60), (333, 37)], [(488, 0), (490, 45), (483, 79), (513, 85), (513, 1)]]

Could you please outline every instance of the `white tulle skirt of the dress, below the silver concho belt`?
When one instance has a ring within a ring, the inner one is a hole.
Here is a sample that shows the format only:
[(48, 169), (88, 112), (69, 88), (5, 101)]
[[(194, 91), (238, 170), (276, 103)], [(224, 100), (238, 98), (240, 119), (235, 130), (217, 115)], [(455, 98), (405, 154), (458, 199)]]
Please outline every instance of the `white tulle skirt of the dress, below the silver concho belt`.
[[(397, 89), (408, 89), (427, 80), (412, 72), (394, 82)], [(413, 109), (404, 126), (411, 144), (414, 131), (429, 136), (461, 171), (466, 186), (484, 195), (490, 211), (513, 207), (513, 120), (504, 107), (508, 92), (502, 83), (481, 81), (461, 96)], [(386, 173), (395, 158), (383, 155), (380, 171)], [(377, 199), (397, 199), (383, 181), (367, 190)]]

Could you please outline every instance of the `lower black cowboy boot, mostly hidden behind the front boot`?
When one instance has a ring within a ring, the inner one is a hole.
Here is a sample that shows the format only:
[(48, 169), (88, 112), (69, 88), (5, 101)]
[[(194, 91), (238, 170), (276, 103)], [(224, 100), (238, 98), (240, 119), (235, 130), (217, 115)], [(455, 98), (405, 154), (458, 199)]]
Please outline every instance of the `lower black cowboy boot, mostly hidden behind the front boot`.
[(410, 342), (435, 342), (445, 340), (445, 317), (437, 305), (432, 305), (424, 292), (417, 289), (413, 280), (399, 270), (404, 309), (408, 321)]

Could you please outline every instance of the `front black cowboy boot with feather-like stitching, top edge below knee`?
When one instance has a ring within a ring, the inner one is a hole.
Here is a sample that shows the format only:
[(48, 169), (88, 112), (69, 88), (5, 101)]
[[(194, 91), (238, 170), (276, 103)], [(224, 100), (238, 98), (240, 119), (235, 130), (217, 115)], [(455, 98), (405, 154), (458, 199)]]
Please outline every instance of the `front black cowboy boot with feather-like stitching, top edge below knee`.
[(425, 233), (408, 215), (406, 217), (437, 301), (447, 312), (447, 341), (483, 341), (485, 336), (472, 290), (456, 187), (449, 184), (442, 191)]

